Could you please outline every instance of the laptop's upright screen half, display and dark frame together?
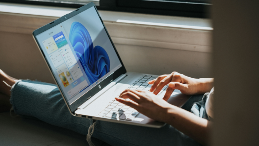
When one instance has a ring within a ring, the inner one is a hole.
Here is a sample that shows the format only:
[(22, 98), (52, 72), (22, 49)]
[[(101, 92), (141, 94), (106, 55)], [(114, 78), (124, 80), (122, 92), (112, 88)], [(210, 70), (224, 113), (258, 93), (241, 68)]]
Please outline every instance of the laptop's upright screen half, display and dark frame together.
[(34, 30), (33, 37), (72, 114), (126, 73), (92, 2)]

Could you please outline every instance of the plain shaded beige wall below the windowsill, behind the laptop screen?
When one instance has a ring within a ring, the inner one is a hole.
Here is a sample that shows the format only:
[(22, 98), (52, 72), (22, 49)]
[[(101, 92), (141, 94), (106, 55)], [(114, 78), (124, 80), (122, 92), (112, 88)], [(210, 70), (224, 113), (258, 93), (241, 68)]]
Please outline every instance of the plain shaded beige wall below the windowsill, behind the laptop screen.
[[(13, 43), (16, 40), (16, 43)], [(0, 34), (0, 68), (18, 79), (53, 83), (54, 79), (29, 34)], [(115, 44), (127, 71), (211, 77), (211, 53)]]

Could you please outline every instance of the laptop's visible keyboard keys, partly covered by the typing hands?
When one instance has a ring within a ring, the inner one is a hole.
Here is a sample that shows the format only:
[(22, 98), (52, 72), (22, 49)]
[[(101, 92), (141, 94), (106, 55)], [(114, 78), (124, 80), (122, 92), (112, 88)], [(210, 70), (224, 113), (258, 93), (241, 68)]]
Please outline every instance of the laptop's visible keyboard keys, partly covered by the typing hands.
[[(136, 80), (129, 89), (137, 89), (137, 90), (146, 90), (149, 91), (151, 88), (151, 84), (148, 84), (148, 81), (151, 81), (153, 79), (156, 79), (158, 76), (152, 76), (152, 75), (143, 75), (138, 80)], [(158, 94), (161, 94), (162, 91), (166, 90), (168, 85), (166, 85)], [(116, 97), (119, 97), (117, 95)], [(132, 101), (130, 99), (126, 99), (128, 101)], [(98, 116), (103, 116), (111, 119), (119, 119), (119, 120), (127, 120), (132, 121), (137, 115), (139, 115), (139, 112), (135, 110), (132, 107), (129, 107), (123, 103), (118, 102), (115, 98), (112, 99), (106, 107), (98, 114)]]

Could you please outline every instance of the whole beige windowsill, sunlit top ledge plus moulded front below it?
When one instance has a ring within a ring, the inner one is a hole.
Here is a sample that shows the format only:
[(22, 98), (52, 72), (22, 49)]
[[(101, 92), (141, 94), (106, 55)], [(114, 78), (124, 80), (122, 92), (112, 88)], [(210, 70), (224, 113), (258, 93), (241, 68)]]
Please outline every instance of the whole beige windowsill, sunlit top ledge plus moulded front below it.
[[(0, 2), (0, 31), (32, 32), (73, 8)], [(211, 53), (210, 19), (99, 11), (113, 43)]]

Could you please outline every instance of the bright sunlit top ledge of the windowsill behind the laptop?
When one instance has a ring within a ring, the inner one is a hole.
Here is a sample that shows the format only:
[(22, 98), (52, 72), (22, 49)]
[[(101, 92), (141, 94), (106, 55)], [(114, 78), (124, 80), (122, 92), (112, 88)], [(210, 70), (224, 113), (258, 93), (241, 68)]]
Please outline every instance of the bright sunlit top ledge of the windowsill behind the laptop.
[[(36, 6), (0, 2), (0, 12), (61, 17), (74, 11), (74, 8)], [(98, 11), (103, 21), (131, 24), (167, 26), (174, 28), (213, 30), (210, 19), (187, 18), (177, 16), (160, 16), (114, 11)]]

